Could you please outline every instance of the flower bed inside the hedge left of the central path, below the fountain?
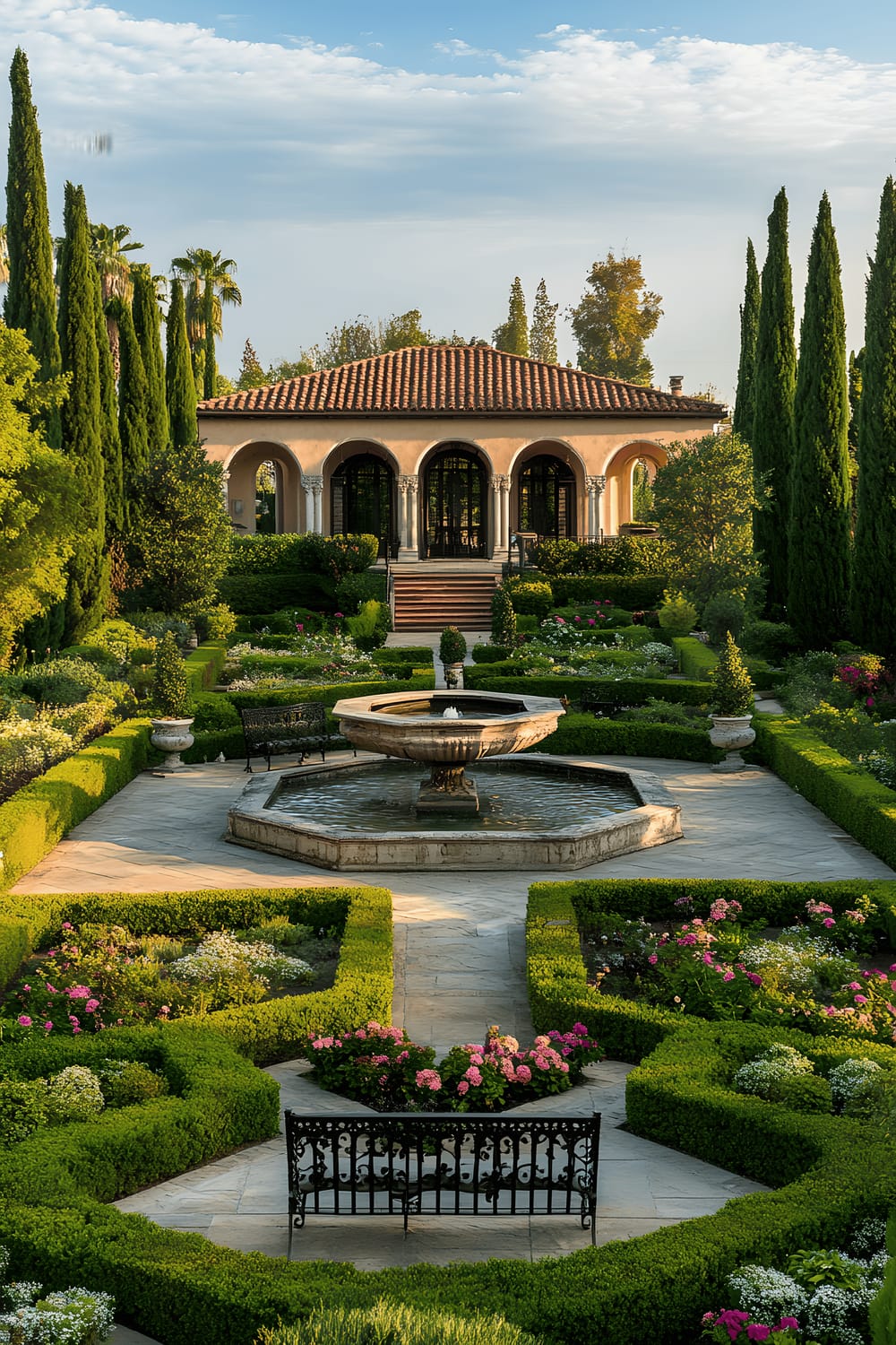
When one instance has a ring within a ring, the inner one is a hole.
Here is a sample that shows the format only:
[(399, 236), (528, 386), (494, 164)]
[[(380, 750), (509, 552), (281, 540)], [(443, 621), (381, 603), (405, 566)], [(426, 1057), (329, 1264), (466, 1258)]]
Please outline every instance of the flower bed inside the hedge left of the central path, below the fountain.
[(333, 933), (274, 916), (236, 932), (134, 935), (122, 925), (63, 921), (28, 959), (0, 1009), (7, 1041), (201, 1017), (332, 983)]

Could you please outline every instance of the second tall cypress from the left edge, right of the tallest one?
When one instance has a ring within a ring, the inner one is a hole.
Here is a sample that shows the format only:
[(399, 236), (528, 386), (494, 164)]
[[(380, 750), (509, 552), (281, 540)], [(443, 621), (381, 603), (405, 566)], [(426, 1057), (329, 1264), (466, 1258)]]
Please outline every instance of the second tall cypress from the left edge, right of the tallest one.
[(63, 452), (81, 486), (77, 546), (69, 562), (64, 638), (77, 643), (109, 607), (109, 557), (102, 460), (102, 398), (97, 351), (97, 268), (81, 187), (66, 183), (64, 239), (59, 257), (59, 348), (70, 375), (62, 406)]

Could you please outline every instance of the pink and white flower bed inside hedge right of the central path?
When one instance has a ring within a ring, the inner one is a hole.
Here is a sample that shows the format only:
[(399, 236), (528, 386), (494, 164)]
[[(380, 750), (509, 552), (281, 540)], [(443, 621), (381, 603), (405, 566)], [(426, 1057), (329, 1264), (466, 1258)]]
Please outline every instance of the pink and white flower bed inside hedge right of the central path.
[(590, 983), (701, 1018), (896, 1041), (896, 963), (875, 958), (868, 898), (838, 916), (810, 900), (779, 931), (746, 921), (736, 900), (703, 915), (689, 896), (674, 907), (665, 924), (604, 911), (586, 925)]

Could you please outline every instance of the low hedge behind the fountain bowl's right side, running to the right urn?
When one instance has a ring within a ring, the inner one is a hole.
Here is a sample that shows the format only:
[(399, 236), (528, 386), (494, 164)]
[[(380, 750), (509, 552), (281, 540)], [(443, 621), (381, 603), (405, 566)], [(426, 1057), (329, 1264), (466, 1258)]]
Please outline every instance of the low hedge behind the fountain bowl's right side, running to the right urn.
[(528, 751), (557, 756), (668, 757), (670, 761), (721, 761), (724, 757), (724, 752), (713, 748), (705, 729), (637, 720), (596, 720), (594, 714), (572, 714), (568, 710), (555, 732)]

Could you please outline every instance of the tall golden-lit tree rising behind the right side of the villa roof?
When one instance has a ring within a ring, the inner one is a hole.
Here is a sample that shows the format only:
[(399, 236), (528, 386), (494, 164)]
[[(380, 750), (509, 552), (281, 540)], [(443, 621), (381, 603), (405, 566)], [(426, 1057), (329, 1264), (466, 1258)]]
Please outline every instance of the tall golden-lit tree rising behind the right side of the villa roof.
[(662, 317), (662, 296), (646, 288), (639, 257), (609, 252), (588, 272), (591, 293), (570, 309), (579, 369), (630, 383), (653, 382), (643, 343)]

